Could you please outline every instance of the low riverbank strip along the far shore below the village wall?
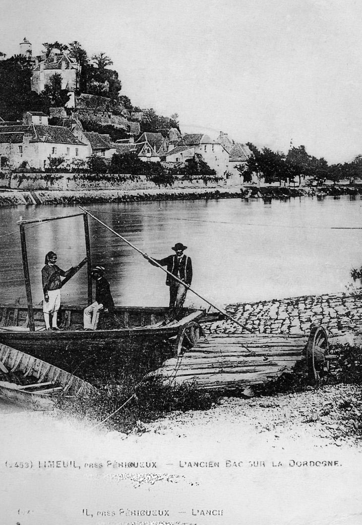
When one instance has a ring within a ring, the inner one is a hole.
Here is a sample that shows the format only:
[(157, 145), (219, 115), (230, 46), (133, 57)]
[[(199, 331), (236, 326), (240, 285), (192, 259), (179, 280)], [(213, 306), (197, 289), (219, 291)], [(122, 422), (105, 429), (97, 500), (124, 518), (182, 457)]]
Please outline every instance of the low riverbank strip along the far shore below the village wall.
[(316, 196), (323, 199), (326, 196), (338, 198), (349, 195), (356, 198), (362, 195), (359, 186), (325, 186), (322, 188), (293, 188), (277, 186), (234, 186), (234, 187), (160, 187), (138, 190), (8, 190), (0, 188), (0, 206), (40, 205), (40, 204), (90, 204), (111, 202), (152, 202), (180, 201), (198, 199), (261, 199), (271, 202), (272, 199), (289, 199), (294, 197)]

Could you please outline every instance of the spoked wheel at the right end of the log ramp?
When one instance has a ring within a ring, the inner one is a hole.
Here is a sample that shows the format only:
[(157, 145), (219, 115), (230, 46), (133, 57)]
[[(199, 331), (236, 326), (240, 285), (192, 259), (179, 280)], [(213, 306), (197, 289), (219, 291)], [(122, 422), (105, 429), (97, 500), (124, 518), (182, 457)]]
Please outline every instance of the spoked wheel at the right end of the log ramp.
[(322, 326), (315, 325), (311, 329), (309, 340), (306, 344), (306, 364), (308, 366), (308, 374), (315, 384), (318, 384), (321, 377), (330, 370), (330, 363), (325, 359), (327, 353), (327, 332)]

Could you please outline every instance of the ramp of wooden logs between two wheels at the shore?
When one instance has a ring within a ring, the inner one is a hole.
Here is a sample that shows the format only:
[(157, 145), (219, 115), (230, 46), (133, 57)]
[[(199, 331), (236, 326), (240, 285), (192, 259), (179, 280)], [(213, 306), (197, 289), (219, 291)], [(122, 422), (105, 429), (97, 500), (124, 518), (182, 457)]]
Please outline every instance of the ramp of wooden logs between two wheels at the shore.
[(305, 335), (207, 335), (190, 351), (168, 359), (153, 374), (205, 388), (229, 389), (265, 383), (303, 359)]

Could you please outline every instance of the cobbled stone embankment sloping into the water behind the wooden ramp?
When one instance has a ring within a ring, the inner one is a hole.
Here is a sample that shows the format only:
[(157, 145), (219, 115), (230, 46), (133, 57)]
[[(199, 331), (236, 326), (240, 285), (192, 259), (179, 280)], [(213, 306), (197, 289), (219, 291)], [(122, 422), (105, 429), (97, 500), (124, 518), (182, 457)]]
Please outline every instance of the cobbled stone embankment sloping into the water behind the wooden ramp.
[[(257, 333), (309, 334), (312, 323), (322, 324), (333, 336), (362, 333), (362, 295), (338, 293), (231, 304), (226, 311)], [(231, 334), (243, 329), (226, 319), (212, 323), (210, 331)]]

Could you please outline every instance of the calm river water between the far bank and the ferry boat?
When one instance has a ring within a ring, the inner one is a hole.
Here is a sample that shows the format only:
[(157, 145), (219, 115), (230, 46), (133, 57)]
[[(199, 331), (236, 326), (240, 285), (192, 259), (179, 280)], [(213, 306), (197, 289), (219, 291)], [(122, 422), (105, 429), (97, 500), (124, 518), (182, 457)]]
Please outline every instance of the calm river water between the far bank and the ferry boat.
[[(18, 226), (25, 219), (76, 213), (73, 206), (1, 208), (1, 301), (25, 301)], [(253, 301), (343, 291), (352, 267), (362, 265), (361, 200), (326, 197), (264, 203), (250, 199), (90, 205), (98, 216), (140, 250), (155, 258), (182, 242), (194, 268), (193, 287), (218, 303)], [(103, 213), (107, 212), (107, 213)], [(110, 213), (112, 212), (112, 213)], [(106, 267), (117, 304), (166, 306), (166, 274), (92, 218), (94, 265)], [(42, 300), (40, 271), (45, 254), (56, 251), (67, 269), (85, 257), (82, 217), (27, 229), (34, 303)], [(85, 267), (62, 289), (62, 301), (86, 303)], [(187, 304), (200, 304), (189, 292)]]

